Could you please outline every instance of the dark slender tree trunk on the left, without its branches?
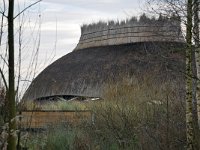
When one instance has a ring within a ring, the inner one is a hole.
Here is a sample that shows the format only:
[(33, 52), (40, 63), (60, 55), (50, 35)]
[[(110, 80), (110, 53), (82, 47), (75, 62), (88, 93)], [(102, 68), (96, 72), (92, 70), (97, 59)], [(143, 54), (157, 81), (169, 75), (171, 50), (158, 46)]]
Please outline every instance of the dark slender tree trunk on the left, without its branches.
[(14, 76), (14, 0), (9, 0), (8, 7), (8, 52), (9, 52), (9, 86), (8, 86), (8, 114), (9, 137), (8, 150), (16, 149), (16, 107), (15, 107), (15, 76)]

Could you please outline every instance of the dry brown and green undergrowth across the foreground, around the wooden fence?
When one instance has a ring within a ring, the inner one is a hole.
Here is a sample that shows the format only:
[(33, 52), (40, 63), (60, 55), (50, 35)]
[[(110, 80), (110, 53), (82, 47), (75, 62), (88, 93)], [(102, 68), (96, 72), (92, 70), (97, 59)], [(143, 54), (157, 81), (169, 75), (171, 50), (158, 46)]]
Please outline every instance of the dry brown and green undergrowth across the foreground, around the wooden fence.
[[(152, 76), (140, 80), (122, 78), (105, 87), (104, 100), (87, 105), (81, 103), (83, 109), (92, 110), (93, 124), (83, 123), (76, 128), (66, 125), (55, 127), (45, 133), (44, 142), (38, 143), (41, 149), (62, 149), (66, 146), (75, 149), (77, 145), (82, 149), (184, 149), (183, 85), (181, 81), (164, 81)], [(69, 103), (52, 103), (37, 108), (61, 109)], [(35, 104), (29, 107), (32, 105)]]

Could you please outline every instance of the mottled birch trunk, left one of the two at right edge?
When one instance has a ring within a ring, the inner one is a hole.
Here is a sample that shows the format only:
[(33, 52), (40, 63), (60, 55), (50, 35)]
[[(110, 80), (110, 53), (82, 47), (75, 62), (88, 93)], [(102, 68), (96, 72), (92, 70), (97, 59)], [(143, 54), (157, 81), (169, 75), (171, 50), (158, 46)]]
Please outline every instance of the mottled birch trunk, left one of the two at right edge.
[(187, 3), (186, 26), (186, 135), (187, 150), (194, 149), (193, 115), (192, 115), (192, 0)]

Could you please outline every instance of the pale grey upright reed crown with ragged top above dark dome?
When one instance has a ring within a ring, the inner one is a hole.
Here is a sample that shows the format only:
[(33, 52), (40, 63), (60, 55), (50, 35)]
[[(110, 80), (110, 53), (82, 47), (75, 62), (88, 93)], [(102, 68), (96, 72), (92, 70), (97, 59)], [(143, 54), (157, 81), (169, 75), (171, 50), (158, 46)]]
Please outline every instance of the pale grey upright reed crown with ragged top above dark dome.
[(81, 37), (75, 50), (89, 47), (137, 42), (181, 42), (180, 21), (176, 16), (148, 18), (145, 14), (122, 21), (110, 20), (81, 27)]

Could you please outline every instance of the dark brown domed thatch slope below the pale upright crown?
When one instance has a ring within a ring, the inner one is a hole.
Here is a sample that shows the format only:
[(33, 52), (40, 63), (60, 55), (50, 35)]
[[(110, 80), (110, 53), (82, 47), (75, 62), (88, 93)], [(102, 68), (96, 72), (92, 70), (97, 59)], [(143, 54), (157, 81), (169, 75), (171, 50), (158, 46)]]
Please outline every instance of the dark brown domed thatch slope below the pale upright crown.
[[(101, 97), (104, 85), (119, 76), (140, 76), (157, 70), (160, 76), (181, 76), (183, 55), (178, 43), (135, 43), (86, 48), (58, 59), (31, 83), (23, 99), (55, 95)], [(175, 50), (175, 51), (174, 51)]]

